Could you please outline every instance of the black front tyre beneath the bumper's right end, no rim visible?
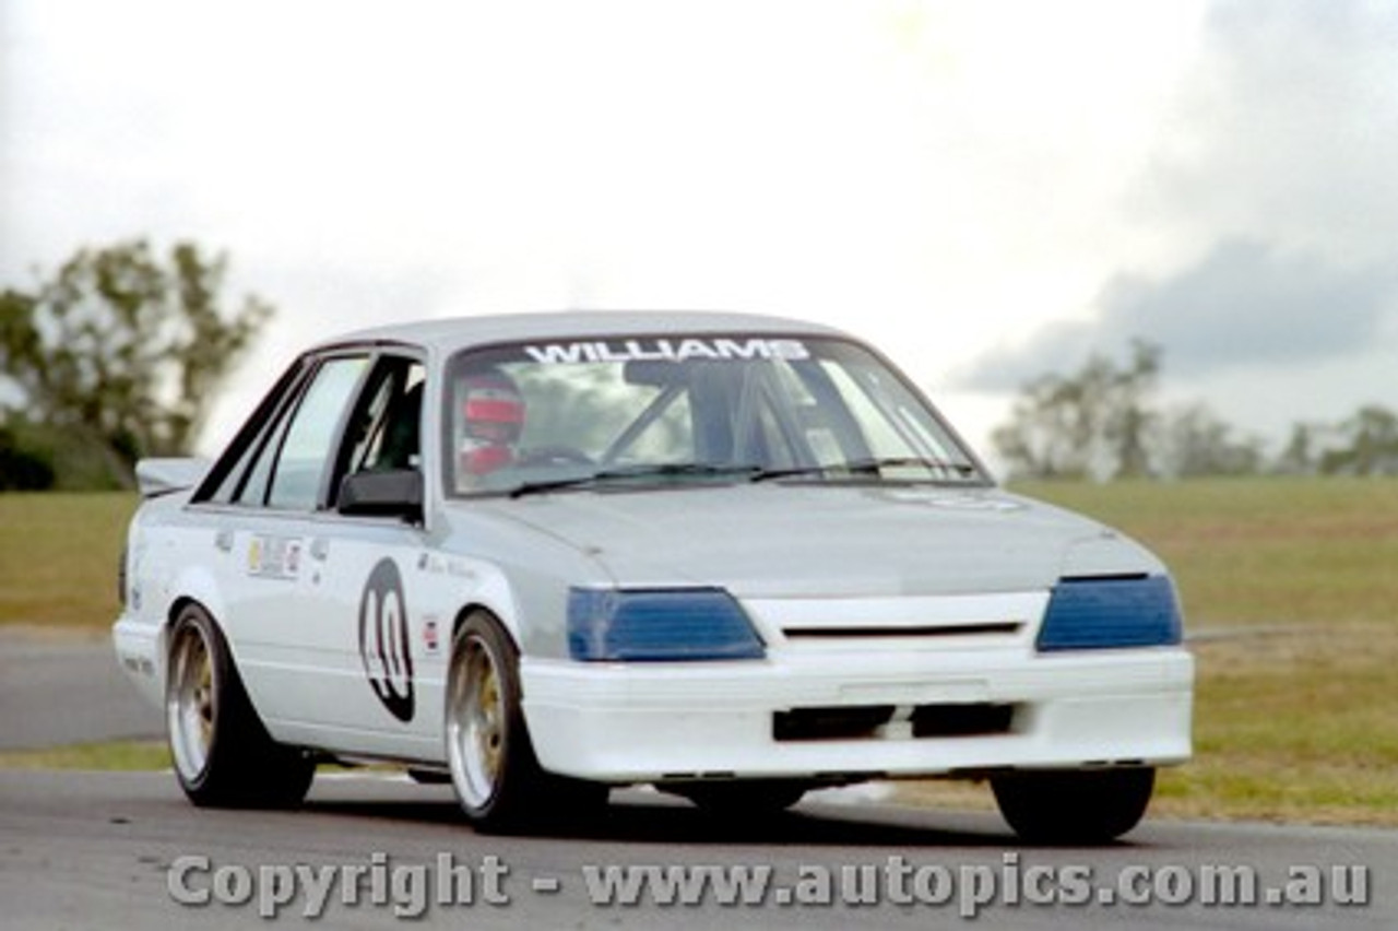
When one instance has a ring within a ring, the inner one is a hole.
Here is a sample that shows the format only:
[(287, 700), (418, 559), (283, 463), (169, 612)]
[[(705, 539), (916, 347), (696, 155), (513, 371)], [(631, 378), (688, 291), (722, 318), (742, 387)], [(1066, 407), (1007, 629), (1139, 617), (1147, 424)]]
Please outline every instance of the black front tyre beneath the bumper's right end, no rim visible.
[(1012, 773), (990, 786), (1000, 814), (1025, 840), (1103, 844), (1141, 822), (1155, 791), (1155, 769)]

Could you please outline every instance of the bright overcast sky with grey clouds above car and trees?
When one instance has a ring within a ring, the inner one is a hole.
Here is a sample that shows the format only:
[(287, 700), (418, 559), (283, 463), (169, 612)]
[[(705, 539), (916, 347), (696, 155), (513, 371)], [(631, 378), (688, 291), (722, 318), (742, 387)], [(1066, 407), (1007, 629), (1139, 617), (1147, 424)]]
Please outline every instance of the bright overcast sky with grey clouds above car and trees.
[(1398, 407), (1398, 4), (3, 0), (0, 284), (136, 236), (308, 341), (723, 308), (885, 348), (984, 449), (1165, 349), (1279, 433)]

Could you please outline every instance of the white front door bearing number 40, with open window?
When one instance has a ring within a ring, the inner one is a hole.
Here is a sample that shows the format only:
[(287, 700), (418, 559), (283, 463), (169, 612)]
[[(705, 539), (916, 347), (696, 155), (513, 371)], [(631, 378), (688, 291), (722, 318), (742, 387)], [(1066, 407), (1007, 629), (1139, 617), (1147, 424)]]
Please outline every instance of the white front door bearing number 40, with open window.
[[(382, 355), (347, 426), (334, 468), (345, 475), (417, 474), (421, 481), (425, 369)], [(306, 724), (344, 751), (439, 758), (449, 594), (421, 520), (340, 513), (308, 524), (299, 635), (316, 650), (320, 698)]]

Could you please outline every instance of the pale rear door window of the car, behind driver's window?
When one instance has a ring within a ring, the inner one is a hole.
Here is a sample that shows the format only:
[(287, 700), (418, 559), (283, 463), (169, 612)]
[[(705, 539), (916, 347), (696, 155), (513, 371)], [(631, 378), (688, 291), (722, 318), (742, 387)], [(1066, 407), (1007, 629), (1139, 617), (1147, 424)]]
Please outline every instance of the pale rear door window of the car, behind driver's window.
[(273, 436), (243, 486), (242, 503), (256, 505), (261, 488), (268, 507), (313, 510), (334, 453), (345, 407), (369, 361), (366, 356), (327, 359), (281, 435)]

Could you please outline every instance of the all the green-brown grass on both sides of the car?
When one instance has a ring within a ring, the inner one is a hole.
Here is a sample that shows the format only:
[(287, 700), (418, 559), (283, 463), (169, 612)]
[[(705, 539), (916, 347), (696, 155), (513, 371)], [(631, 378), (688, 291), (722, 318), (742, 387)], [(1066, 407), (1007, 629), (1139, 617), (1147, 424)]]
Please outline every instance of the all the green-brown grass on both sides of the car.
[[(1195, 759), (1156, 815), (1398, 825), (1398, 479), (1040, 484), (1172, 568), (1198, 661)], [(136, 498), (0, 495), (0, 622), (101, 629)], [(0, 753), (0, 766), (150, 767), (164, 748)], [(988, 805), (984, 788), (900, 797)]]

